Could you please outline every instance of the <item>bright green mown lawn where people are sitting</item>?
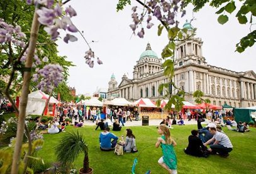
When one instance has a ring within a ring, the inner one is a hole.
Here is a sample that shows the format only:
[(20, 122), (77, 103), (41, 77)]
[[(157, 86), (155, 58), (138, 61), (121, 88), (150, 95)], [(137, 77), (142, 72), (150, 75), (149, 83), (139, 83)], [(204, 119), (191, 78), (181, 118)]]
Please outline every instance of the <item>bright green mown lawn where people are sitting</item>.
[[(94, 173), (131, 173), (133, 159), (138, 156), (138, 165), (136, 173), (145, 173), (151, 170), (152, 173), (167, 173), (164, 168), (157, 163), (162, 151), (155, 148), (157, 137), (156, 126), (134, 126), (130, 127), (136, 136), (136, 145), (138, 153), (125, 153), (123, 156), (117, 156), (113, 151), (99, 150), (99, 133), (95, 131), (94, 126), (86, 126), (85, 128), (74, 128), (67, 126), (66, 131), (79, 129), (84, 134), (87, 144), (89, 145), (89, 162), (94, 169)], [(116, 136), (125, 135), (125, 128), (120, 132), (114, 132)], [(183, 151), (187, 146), (187, 136), (190, 135), (192, 129), (197, 128), (196, 125), (175, 126), (170, 130), (172, 138), (177, 142), (175, 152), (177, 155), (178, 173), (255, 173), (255, 142), (256, 129), (251, 128), (248, 133), (238, 133), (228, 131), (224, 128), (225, 133), (230, 137), (234, 146), (228, 158), (221, 158), (218, 155), (210, 155), (208, 158), (197, 158), (186, 155)], [(42, 150), (38, 151), (38, 156), (47, 162), (56, 161), (53, 145), (60, 140), (64, 133), (56, 135), (45, 134)], [(83, 155), (79, 155), (75, 160), (75, 167), (81, 168)]]

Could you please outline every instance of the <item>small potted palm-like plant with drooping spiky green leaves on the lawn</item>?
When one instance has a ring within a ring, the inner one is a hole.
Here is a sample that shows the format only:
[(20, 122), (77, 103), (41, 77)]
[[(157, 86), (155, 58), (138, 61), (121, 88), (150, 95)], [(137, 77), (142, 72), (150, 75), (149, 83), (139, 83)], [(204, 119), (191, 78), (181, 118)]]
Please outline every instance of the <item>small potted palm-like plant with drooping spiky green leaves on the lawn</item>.
[[(72, 148), (71, 148), (72, 147)], [(61, 140), (55, 146), (57, 160), (64, 166), (68, 166), (74, 162), (79, 153), (84, 153), (84, 165), (79, 173), (91, 174), (92, 168), (89, 167), (88, 147), (82, 133), (70, 131), (62, 135)]]

